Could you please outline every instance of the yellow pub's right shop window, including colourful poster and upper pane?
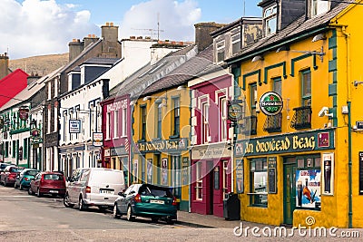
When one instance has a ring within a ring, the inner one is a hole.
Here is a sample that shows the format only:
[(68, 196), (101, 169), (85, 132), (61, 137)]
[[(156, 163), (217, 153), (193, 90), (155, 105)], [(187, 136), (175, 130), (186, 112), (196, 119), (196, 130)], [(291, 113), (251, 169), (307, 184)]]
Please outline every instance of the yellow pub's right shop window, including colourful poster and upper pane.
[(320, 156), (297, 158), (296, 192), (297, 208), (319, 209), (321, 205)]

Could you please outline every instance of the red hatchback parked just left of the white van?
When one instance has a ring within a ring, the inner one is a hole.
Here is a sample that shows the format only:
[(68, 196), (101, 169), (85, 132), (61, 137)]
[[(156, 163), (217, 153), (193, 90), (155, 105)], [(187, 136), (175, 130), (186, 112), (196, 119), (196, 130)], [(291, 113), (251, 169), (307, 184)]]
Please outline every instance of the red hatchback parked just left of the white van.
[(42, 197), (44, 194), (64, 197), (65, 179), (60, 172), (43, 171), (38, 173), (30, 182), (28, 189), (30, 195)]

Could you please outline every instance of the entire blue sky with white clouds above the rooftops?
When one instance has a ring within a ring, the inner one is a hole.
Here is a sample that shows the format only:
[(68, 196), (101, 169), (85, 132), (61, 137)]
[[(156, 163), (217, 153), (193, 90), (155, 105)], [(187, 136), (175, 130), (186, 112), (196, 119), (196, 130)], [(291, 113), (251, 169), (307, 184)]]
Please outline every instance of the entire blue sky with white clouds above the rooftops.
[(259, 2), (245, 0), (244, 8), (243, 0), (0, 0), (0, 53), (10, 59), (66, 53), (72, 39), (100, 36), (106, 22), (120, 26), (121, 39), (150, 35), (144, 29), (157, 29), (159, 19), (161, 39), (193, 41), (193, 24), (260, 16)]

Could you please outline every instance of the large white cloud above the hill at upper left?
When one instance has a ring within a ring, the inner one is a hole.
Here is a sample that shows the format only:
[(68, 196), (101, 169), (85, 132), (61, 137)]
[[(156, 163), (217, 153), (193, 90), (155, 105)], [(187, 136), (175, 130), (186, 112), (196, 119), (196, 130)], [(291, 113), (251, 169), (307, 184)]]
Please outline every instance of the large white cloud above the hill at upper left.
[(48, 53), (68, 52), (68, 43), (100, 32), (90, 23), (89, 11), (74, 12), (74, 5), (58, 5), (55, 0), (1, 0), (0, 53), (11, 59)]

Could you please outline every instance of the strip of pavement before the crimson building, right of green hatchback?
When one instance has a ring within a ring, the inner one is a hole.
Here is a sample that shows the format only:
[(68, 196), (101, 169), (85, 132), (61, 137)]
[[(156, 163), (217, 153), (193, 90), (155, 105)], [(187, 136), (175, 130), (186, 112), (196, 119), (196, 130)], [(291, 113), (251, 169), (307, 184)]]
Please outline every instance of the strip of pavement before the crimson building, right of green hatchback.
[[(213, 215), (201, 215), (197, 213), (189, 213), (184, 211), (178, 211), (177, 224), (189, 227), (210, 227), (210, 228), (231, 228), (240, 227), (240, 220), (226, 220), (224, 218), (218, 218)], [(243, 227), (273, 227), (264, 224), (251, 223), (243, 221)]]

